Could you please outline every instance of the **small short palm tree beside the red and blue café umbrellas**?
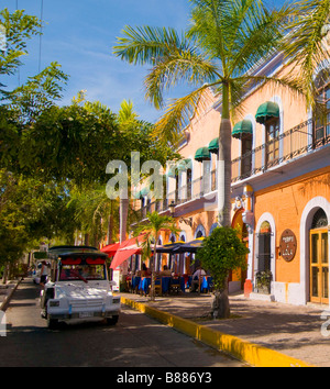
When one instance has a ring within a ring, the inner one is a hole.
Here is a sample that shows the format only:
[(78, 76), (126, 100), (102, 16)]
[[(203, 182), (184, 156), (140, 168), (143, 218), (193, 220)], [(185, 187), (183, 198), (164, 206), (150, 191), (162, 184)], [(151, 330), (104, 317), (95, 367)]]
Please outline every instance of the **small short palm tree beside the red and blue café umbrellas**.
[(157, 212), (147, 213), (146, 224), (140, 224), (134, 234), (139, 236), (144, 234), (144, 241), (142, 244), (142, 249), (144, 254), (151, 254), (151, 245), (154, 244), (153, 255), (150, 255), (151, 259), (151, 269), (152, 269), (152, 282), (151, 282), (151, 293), (150, 298), (152, 301), (155, 300), (155, 258), (157, 255), (157, 241), (161, 231), (170, 231), (174, 234), (178, 234), (179, 230), (175, 225), (175, 220), (172, 216), (160, 215)]

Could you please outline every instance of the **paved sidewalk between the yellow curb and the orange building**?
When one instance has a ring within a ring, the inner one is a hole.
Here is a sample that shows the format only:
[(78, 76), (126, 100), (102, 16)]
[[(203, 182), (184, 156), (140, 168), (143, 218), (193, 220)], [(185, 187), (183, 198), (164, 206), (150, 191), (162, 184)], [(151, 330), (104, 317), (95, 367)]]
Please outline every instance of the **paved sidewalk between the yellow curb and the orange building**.
[[(183, 325), (189, 327), (189, 323), (195, 323), (197, 326), (194, 331), (197, 333), (201, 333), (205, 327), (208, 327), (213, 330), (209, 331), (212, 337), (216, 336), (216, 333), (232, 335), (234, 338), (224, 336), (224, 341), (230, 340), (234, 347), (240, 348), (241, 355), (243, 355), (242, 348), (248, 349), (252, 344), (256, 347), (250, 347), (250, 354), (256, 354), (257, 348), (266, 347), (305, 362), (307, 365), (330, 366), (330, 336), (326, 337), (321, 333), (322, 324), (330, 319), (330, 311), (328, 318), (322, 316), (327, 307), (297, 307), (279, 302), (256, 301), (245, 299), (243, 294), (235, 294), (230, 296), (231, 319), (209, 320), (207, 315), (210, 312), (211, 294), (185, 293), (156, 297), (154, 302), (151, 302), (147, 297), (134, 293), (120, 293), (120, 296), (123, 303), (134, 308), (139, 305), (138, 309), (144, 312), (145, 307), (155, 309), (145, 313), (156, 319), (158, 315), (161, 321), (167, 321), (178, 331), (186, 332)], [(136, 305), (136, 303), (141, 304)], [(157, 311), (166, 313), (167, 319), (164, 319), (161, 313), (157, 314)], [(182, 321), (184, 324), (179, 322), (176, 325), (173, 316), (187, 319), (187, 321)], [(187, 330), (186, 333), (188, 331), (190, 330)], [(256, 357), (252, 355), (253, 358)], [(295, 362), (289, 364), (289, 366), (292, 365), (301, 366)]]

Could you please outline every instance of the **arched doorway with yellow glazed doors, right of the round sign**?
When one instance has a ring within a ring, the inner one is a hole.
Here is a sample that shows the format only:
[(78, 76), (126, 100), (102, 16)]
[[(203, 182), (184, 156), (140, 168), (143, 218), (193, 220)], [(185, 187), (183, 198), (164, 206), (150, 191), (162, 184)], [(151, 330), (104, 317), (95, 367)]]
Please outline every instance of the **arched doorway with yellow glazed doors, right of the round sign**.
[(310, 301), (329, 303), (328, 218), (320, 208), (315, 212), (309, 233)]

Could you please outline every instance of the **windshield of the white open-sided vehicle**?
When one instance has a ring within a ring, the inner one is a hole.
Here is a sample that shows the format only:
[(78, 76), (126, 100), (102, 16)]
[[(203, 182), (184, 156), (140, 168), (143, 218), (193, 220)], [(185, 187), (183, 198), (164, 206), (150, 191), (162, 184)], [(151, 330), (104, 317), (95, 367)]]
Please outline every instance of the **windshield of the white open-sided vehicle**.
[(59, 281), (105, 280), (105, 265), (61, 265)]

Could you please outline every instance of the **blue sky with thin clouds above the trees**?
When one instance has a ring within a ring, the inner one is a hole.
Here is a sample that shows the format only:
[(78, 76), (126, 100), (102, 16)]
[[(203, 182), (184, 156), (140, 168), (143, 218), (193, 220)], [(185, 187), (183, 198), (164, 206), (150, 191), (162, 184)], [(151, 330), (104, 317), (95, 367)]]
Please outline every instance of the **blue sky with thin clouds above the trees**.
[[(282, 3), (273, 0), (273, 3)], [(42, 0), (2, 0), (1, 9), (24, 9), (41, 16)], [(79, 90), (87, 99), (99, 100), (112, 111), (123, 99), (131, 99), (141, 119), (154, 122), (161, 113), (144, 99), (143, 78), (147, 68), (129, 65), (114, 55), (112, 46), (124, 25), (170, 26), (179, 31), (188, 25), (188, 0), (43, 0), (45, 27), (42, 37), (41, 68), (56, 60), (70, 76), (61, 104), (68, 104)], [(24, 82), (38, 73), (40, 41), (29, 44), (25, 66), (13, 82)], [(175, 91), (172, 97), (179, 97)]]

